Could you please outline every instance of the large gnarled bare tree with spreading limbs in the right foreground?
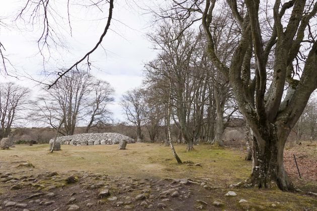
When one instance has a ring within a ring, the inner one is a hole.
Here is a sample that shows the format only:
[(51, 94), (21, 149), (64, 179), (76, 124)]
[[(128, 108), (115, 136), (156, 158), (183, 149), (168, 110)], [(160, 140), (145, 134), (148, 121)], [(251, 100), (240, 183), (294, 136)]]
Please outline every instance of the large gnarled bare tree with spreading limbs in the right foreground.
[[(202, 20), (209, 58), (230, 81), (240, 111), (253, 131), (249, 182), (267, 188), (273, 181), (282, 190), (294, 190), (284, 168), (283, 151), (291, 129), (317, 88), (316, 27), (309, 24), (315, 21), (317, 3), (227, 1), (227, 12), (241, 29), (228, 63), (223, 63), (216, 52), (211, 28), (220, 2), (175, 0), (173, 4), (176, 13), (169, 14), (170, 18), (194, 16)], [(271, 18), (262, 19), (262, 12)]]

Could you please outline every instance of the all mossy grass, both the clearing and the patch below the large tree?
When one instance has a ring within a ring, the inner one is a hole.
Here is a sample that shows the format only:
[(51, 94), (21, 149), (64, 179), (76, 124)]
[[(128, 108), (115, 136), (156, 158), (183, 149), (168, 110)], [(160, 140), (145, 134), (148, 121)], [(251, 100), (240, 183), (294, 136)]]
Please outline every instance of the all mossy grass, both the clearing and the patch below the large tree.
[[(250, 175), (252, 162), (244, 160), (242, 151), (204, 144), (195, 146), (195, 150), (189, 153), (185, 151), (185, 145), (176, 145), (175, 148), (183, 161), (190, 160), (194, 164), (178, 165), (170, 147), (142, 143), (128, 144), (126, 150), (117, 150), (116, 145), (62, 145), (61, 151), (53, 153), (49, 153), (48, 145), (17, 145), (11, 150), (0, 151), (0, 165), (2, 172), (10, 165), (16, 165), (17, 161), (25, 161), (35, 166), (32, 174), (46, 171), (64, 174), (85, 171), (140, 179), (172, 177), (204, 180), (212, 188), (200, 188), (199, 198), (208, 204), (215, 200), (224, 203), (223, 207), (212, 209), (314, 210), (317, 207), (315, 196), (282, 192), (278, 189), (234, 188), (237, 196), (224, 196), (230, 190), (230, 184), (243, 181)], [(197, 163), (201, 166), (195, 166)], [(308, 190), (317, 186), (315, 181), (299, 185), (304, 185)], [(0, 188), (0, 194), (4, 191)], [(248, 201), (247, 205), (239, 204), (242, 198)]]

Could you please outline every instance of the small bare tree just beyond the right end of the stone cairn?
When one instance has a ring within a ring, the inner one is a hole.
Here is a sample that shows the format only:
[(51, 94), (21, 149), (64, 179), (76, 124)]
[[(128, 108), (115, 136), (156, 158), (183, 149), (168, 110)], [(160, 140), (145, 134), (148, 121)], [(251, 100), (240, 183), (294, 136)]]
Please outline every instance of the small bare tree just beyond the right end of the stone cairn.
[(145, 119), (144, 91), (141, 88), (127, 91), (122, 95), (120, 104), (127, 120), (136, 126), (137, 142), (142, 142), (141, 124)]

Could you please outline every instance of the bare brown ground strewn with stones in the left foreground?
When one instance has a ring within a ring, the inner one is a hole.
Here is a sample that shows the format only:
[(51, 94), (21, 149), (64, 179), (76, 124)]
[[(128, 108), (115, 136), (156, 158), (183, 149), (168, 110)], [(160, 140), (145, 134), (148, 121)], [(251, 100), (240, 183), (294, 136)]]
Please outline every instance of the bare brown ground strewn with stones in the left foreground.
[[(22, 165), (30, 167), (28, 164)], [(25, 174), (21, 176), (21, 173)], [(221, 209), (224, 205), (221, 201), (209, 204), (201, 200), (202, 194), (213, 188), (208, 181), (112, 178), (98, 173), (69, 173), (72, 174), (45, 172), (33, 175), (32, 168), (18, 174), (0, 173), (0, 186), (8, 188), (0, 199), (0, 209), (195, 210)]]

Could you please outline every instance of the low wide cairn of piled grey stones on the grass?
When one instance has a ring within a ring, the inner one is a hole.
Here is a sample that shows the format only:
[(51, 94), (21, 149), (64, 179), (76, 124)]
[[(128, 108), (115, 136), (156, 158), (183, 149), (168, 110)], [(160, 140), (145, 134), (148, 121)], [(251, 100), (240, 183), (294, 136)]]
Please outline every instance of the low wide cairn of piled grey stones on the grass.
[[(119, 144), (121, 140), (126, 143), (135, 143), (133, 139), (119, 133), (84, 133), (72, 136), (57, 137), (56, 142), (65, 145), (105, 145), (105, 144)], [(50, 140), (50, 143), (53, 139)]]

